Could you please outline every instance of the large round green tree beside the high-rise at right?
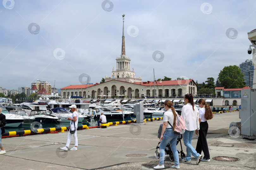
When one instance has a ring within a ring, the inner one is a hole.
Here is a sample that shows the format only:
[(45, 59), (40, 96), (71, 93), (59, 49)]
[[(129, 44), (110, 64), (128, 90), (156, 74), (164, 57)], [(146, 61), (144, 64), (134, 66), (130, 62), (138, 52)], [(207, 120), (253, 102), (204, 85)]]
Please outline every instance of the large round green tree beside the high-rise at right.
[(218, 79), (221, 87), (224, 88), (243, 88), (244, 74), (237, 65), (225, 66), (219, 73)]

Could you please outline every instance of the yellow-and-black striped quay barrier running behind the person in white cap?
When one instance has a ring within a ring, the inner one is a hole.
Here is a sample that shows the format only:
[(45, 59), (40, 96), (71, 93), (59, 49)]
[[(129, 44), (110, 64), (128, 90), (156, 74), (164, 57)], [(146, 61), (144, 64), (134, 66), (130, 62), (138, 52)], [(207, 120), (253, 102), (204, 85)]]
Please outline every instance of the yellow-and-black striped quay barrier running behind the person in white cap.
[[(52, 128), (41, 128), (41, 129), (33, 129), (33, 130), (19, 130), (19, 131), (11, 131), (11, 132), (5, 132), (2, 134), (2, 137), (4, 136), (23, 136), (23, 135), (28, 135), (28, 134), (38, 134), (38, 133), (47, 133), (47, 132), (55, 132), (55, 131), (60, 131), (64, 132), (67, 130), (69, 126), (66, 127), (52, 127)], [(79, 125), (77, 126), (77, 130), (81, 129), (89, 129), (87, 125)]]

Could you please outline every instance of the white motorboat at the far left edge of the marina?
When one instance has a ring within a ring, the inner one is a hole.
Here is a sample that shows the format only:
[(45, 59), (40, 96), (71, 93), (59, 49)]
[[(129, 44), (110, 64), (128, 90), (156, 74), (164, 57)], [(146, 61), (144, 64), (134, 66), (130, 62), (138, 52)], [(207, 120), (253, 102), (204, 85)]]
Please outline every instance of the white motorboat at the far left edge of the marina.
[(18, 127), (24, 121), (24, 118), (20, 115), (10, 114), (5, 107), (1, 107), (2, 114), (5, 115), (7, 124), (5, 127)]

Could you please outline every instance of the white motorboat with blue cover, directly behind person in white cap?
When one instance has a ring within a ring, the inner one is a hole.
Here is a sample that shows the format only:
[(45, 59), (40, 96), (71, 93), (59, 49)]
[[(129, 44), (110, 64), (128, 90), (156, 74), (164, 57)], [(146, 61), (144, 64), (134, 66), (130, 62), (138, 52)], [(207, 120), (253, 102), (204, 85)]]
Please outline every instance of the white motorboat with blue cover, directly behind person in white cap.
[[(51, 109), (50, 112), (51, 112), (51, 115), (59, 117), (62, 122), (70, 122), (68, 118), (71, 117), (73, 114), (63, 107), (57, 107), (57, 108)], [(84, 116), (78, 115), (78, 122), (82, 122), (83, 120), (84, 120)]]

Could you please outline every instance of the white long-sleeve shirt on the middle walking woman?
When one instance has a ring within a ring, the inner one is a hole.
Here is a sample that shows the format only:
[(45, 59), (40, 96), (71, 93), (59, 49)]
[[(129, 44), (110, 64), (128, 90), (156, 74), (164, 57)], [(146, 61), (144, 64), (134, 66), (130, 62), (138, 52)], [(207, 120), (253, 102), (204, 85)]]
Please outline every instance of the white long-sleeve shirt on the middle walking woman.
[(193, 107), (190, 103), (187, 103), (182, 107), (181, 117), (185, 121), (186, 130), (193, 131), (199, 130), (199, 111), (196, 106)]

